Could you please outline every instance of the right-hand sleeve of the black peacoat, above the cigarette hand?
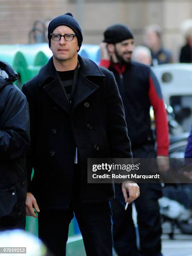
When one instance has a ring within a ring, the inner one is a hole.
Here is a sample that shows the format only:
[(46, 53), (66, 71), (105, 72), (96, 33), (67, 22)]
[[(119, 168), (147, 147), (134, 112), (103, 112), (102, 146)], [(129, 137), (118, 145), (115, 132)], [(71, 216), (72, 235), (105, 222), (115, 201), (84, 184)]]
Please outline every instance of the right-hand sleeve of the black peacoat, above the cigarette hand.
[(107, 81), (106, 95), (110, 154), (112, 158), (132, 158), (123, 103), (112, 72), (110, 72), (110, 78)]

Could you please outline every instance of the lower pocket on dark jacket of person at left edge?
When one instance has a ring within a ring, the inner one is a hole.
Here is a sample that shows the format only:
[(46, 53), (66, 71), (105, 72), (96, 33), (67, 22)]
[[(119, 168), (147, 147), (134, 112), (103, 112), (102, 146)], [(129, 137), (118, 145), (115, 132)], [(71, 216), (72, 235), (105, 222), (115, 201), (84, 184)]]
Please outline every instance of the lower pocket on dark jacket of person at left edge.
[(17, 194), (16, 185), (0, 189), (0, 218), (5, 216), (16, 216)]

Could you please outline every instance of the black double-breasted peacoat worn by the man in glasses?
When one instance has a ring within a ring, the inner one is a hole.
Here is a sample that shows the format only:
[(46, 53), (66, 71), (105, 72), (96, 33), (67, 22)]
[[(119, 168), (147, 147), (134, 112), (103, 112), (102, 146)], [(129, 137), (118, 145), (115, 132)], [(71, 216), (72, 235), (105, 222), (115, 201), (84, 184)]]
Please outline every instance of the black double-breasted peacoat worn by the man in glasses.
[(69, 206), (76, 146), (81, 184), (77, 194), (84, 202), (114, 197), (112, 184), (87, 184), (87, 158), (132, 156), (113, 74), (89, 59), (78, 59), (80, 68), (71, 104), (52, 58), (22, 87), (30, 107), (28, 192), (35, 196), (40, 209)]

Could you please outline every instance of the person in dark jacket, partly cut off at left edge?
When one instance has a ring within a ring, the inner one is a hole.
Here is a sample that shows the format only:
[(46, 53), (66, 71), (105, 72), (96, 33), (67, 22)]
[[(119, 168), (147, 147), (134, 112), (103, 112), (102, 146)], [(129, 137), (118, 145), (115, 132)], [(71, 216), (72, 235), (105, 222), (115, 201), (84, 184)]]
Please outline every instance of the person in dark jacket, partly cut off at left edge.
[(30, 124), (26, 97), (13, 84), (17, 78), (12, 67), (0, 61), (0, 230), (25, 228)]

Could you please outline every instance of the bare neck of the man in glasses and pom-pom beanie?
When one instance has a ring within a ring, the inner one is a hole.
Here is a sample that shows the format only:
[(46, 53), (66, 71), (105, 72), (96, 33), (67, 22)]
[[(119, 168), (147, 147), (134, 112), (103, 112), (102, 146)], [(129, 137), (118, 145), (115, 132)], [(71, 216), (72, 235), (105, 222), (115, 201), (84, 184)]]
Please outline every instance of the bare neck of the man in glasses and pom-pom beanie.
[(58, 61), (53, 57), (53, 64), (57, 71), (69, 71), (77, 67), (77, 57), (66, 61)]

